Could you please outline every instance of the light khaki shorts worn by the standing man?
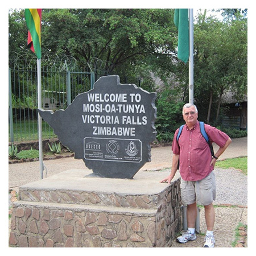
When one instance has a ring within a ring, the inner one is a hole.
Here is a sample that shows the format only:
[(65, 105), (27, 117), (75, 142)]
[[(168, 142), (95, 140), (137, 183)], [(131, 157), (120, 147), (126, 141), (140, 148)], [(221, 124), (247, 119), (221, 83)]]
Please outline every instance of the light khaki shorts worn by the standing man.
[(203, 180), (185, 181), (181, 179), (181, 199), (183, 204), (209, 205), (216, 199), (215, 174), (212, 171)]

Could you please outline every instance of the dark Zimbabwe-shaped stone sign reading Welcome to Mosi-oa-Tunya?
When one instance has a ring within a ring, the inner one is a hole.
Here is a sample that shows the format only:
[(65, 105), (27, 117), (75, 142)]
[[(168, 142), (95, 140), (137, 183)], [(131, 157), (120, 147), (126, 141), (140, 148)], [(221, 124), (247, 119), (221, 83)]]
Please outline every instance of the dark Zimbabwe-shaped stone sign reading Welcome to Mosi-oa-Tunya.
[(105, 76), (67, 109), (39, 113), (93, 176), (130, 179), (151, 161), (155, 98), (134, 84), (120, 84), (116, 75)]

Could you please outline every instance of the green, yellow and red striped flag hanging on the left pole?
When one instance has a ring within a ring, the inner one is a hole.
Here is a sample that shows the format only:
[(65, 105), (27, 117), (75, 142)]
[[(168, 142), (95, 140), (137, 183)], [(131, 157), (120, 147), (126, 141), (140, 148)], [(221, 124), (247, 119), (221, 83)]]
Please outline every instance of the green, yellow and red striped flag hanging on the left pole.
[(28, 27), (27, 47), (41, 59), (41, 15), (42, 9), (25, 9)]

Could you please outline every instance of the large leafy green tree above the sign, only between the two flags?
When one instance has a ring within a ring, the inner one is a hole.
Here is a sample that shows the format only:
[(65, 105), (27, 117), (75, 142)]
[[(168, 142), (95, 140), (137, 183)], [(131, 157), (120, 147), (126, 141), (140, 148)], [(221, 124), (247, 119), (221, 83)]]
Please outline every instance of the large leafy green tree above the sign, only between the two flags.
[(42, 19), (43, 51), (100, 59), (110, 71), (174, 51), (170, 9), (44, 9)]

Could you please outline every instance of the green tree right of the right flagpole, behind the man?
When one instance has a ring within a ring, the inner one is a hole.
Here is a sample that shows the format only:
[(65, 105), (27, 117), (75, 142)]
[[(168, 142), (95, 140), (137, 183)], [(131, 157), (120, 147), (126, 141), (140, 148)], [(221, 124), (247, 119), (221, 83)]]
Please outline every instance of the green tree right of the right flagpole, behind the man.
[(207, 122), (214, 103), (217, 122), (224, 92), (233, 91), (237, 100), (247, 92), (247, 19), (221, 22), (201, 15), (194, 40), (195, 101), (201, 107), (208, 102)]

